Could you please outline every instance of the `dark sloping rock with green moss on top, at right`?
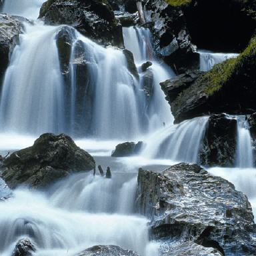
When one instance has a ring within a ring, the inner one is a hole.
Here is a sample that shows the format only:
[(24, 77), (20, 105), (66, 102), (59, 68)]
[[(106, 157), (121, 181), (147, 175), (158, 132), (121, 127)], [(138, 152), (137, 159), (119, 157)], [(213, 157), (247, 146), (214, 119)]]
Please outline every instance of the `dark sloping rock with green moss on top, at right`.
[[(175, 123), (211, 113), (256, 112), (256, 37), (237, 58), (215, 65), (173, 97)], [(169, 90), (164, 90), (167, 97)]]

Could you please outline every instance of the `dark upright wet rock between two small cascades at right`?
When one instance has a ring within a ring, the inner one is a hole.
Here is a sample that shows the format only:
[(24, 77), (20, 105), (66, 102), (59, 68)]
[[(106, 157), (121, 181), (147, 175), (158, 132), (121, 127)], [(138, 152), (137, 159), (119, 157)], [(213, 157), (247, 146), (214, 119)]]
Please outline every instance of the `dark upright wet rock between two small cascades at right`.
[(237, 120), (225, 114), (211, 115), (203, 138), (202, 165), (233, 167), (237, 146)]

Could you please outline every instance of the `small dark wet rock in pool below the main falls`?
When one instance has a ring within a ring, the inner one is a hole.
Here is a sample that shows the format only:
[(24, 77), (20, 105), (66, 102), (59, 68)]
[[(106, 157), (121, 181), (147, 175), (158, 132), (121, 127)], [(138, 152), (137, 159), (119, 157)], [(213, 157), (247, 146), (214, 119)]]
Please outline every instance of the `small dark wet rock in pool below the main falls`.
[(137, 144), (134, 142), (120, 143), (115, 147), (111, 157), (129, 157), (129, 155), (135, 155), (141, 151), (142, 146), (142, 141), (139, 141)]

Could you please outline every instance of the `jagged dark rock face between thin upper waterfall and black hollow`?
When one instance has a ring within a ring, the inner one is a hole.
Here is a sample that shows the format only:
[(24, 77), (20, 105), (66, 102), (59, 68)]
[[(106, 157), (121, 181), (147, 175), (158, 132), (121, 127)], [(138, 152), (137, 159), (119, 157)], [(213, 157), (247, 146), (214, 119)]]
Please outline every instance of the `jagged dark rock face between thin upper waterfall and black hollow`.
[(199, 55), (191, 43), (183, 10), (162, 0), (148, 0), (144, 6), (155, 41), (156, 52), (171, 65), (176, 73), (199, 67)]

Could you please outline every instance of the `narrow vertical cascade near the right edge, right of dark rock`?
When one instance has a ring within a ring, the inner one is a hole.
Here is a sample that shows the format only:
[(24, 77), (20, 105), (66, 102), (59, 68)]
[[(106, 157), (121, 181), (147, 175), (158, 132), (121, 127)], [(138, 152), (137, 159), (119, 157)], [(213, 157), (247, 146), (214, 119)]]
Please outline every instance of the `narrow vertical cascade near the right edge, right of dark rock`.
[(237, 157), (236, 165), (240, 168), (253, 167), (253, 147), (245, 116), (237, 117)]

